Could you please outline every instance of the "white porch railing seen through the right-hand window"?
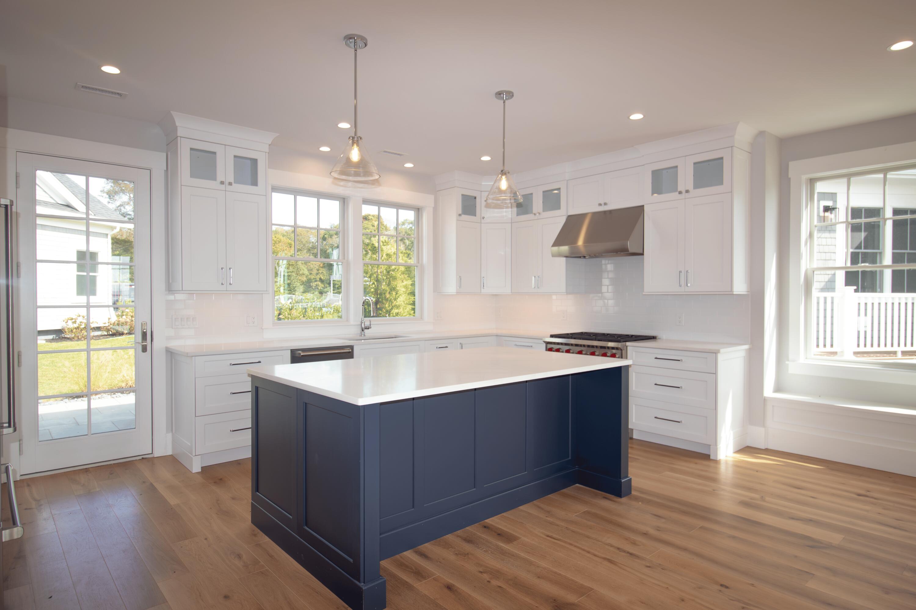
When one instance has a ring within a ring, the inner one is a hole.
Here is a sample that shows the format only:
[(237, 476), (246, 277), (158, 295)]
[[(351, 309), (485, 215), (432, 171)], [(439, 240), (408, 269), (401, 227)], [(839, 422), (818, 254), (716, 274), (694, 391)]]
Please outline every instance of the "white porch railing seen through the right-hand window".
[[(814, 294), (813, 348), (838, 351), (897, 351), (916, 348), (916, 293)], [(848, 337), (848, 340), (846, 338)]]

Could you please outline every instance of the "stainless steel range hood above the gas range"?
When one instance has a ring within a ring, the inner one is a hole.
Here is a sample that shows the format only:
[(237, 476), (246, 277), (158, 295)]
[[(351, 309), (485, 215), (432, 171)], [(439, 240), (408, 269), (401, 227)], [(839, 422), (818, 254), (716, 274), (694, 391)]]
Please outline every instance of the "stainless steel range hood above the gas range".
[(642, 206), (569, 216), (553, 241), (551, 256), (642, 256), (642, 217)]

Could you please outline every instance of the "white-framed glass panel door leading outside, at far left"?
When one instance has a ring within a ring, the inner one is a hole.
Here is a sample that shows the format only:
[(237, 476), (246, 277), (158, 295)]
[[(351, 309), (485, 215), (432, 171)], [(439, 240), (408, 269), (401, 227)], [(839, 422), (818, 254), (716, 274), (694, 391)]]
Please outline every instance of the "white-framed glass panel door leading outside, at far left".
[(149, 319), (149, 172), (39, 155), (17, 167), (21, 258), (36, 272), (21, 292), (22, 472), (149, 453), (150, 353), (135, 324)]

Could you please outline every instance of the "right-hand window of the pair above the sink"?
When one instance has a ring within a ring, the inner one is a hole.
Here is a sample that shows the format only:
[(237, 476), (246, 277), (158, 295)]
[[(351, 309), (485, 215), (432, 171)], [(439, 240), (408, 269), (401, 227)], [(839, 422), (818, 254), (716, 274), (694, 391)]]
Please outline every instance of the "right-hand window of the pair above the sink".
[(419, 317), (420, 237), (419, 209), (363, 202), (363, 295), (375, 301), (375, 317)]

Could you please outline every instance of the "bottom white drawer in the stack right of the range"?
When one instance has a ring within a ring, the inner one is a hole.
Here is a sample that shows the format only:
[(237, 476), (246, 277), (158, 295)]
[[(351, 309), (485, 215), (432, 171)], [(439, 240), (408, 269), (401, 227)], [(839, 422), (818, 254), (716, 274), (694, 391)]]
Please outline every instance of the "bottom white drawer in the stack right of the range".
[(630, 427), (685, 441), (715, 444), (715, 412), (709, 409), (630, 396)]

